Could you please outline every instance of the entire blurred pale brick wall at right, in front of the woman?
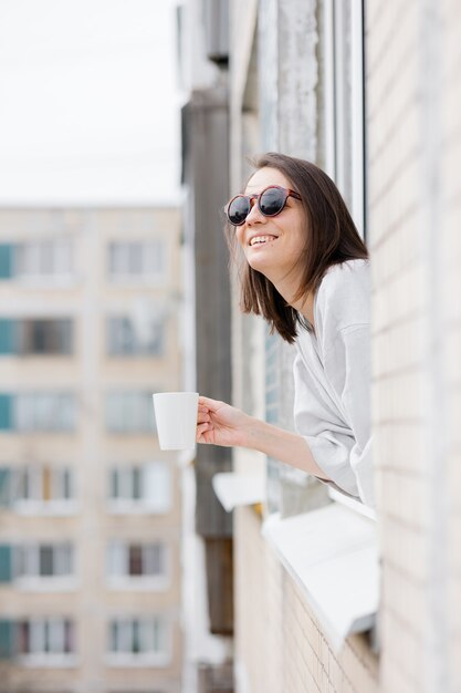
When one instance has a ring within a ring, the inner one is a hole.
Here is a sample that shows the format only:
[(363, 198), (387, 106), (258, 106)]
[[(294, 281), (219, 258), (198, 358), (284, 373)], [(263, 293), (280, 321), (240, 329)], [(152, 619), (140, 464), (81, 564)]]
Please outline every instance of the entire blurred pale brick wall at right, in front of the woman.
[(461, 690), (460, 33), (454, 2), (367, 3), (380, 668), (389, 693)]

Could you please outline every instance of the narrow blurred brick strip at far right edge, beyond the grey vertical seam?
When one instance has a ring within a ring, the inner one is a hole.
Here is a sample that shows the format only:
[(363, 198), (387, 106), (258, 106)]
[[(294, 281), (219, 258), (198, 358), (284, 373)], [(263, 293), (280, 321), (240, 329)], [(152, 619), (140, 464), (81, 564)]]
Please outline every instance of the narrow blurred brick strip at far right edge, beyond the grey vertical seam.
[(447, 670), (450, 692), (461, 691), (461, 6), (444, 0), (441, 99), (441, 265), (443, 272), (443, 368), (447, 387)]

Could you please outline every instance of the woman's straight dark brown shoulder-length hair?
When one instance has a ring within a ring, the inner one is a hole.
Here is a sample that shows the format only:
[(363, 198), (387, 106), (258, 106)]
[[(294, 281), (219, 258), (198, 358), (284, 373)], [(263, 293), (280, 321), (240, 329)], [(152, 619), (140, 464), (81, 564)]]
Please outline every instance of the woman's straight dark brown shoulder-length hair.
[[(314, 292), (333, 265), (367, 258), (368, 251), (333, 180), (318, 166), (284, 154), (268, 153), (252, 162), (253, 167), (276, 168), (301, 195), (306, 220), (306, 244), (298, 262), (304, 266), (303, 279), (295, 300)], [(234, 227), (227, 226), (231, 250), (235, 249)], [(297, 327), (307, 327), (303, 317), (279, 293), (274, 285), (244, 261), (240, 268), (241, 309), (262, 316), (271, 332), (293, 343)]]

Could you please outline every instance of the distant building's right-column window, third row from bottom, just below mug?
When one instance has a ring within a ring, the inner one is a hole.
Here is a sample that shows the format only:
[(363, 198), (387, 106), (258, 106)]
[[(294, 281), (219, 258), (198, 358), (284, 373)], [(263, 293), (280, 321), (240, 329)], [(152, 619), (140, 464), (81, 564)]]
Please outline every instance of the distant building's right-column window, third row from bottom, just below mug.
[(113, 513), (167, 513), (171, 507), (171, 470), (166, 462), (112, 467), (108, 485)]

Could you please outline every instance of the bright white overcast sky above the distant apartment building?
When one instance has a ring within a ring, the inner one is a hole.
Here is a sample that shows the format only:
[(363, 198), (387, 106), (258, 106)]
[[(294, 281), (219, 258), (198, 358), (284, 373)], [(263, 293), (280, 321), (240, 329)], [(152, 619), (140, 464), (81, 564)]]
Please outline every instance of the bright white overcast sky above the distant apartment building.
[(179, 194), (177, 0), (0, 0), (0, 205)]

